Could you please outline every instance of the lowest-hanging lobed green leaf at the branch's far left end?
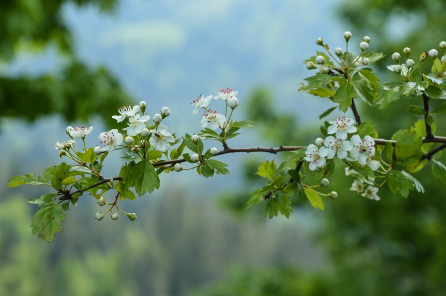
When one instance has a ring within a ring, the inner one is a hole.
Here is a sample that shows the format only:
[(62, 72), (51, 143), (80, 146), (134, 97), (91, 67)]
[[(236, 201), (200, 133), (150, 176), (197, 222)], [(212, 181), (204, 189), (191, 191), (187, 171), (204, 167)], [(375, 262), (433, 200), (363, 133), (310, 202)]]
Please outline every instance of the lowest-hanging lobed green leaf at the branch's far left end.
[(65, 214), (58, 203), (50, 203), (36, 212), (31, 223), (33, 234), (38, 233), (39, 238), (51, 242), (56, 232), (62, 232), (61, 223), (65, 221)]

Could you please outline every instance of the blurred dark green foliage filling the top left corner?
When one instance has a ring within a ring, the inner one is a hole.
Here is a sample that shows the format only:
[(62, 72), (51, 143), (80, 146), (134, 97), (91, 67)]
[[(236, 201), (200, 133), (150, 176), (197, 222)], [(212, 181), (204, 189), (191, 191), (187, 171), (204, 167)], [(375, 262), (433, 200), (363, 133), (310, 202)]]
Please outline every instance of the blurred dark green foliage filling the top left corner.
[(110, 12), (117, 0), (1, 1), (0, 62), (7, 68), (21, 53), (37, 54), (50, 48), (56, 49), (62, 62), (51, 73), (0, 73), (0, 116), (33, 121), (56, 113), (72, 121), (100, 115), (111, 124), (106, 114), (131, 101), (106, 68), (92, 68), (77, 58), (74, 38), (63, 18), (63, 7), (69, 2)]

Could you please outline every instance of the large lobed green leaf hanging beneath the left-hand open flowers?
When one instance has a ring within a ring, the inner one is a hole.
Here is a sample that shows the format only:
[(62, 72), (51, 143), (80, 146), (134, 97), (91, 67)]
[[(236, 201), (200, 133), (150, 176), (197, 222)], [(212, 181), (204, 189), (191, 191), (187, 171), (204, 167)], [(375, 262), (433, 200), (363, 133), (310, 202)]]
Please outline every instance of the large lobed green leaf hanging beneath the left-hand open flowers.
[(129, 184), (135, 186), (136, 193), (139, 196), (160, 188), (160, 178), (148, 158), (135, 164), (131, 168), (128, 178)]

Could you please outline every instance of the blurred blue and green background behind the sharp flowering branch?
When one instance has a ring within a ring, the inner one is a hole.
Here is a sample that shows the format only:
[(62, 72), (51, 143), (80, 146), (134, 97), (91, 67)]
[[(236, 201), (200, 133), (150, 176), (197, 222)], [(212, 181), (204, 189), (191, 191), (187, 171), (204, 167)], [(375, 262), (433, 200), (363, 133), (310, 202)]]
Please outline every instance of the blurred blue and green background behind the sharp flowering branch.
[[(93, 125), (95, 146), (123, 104), (169, 106), (169, 130), (196, 133), (190, 102), (226, 87), (239, 92), (235, 118), (258, 122), (231, 147), (307, 145), (333, 106), (298, 92), (317, 37), (335, 48), (344, 31), (351, 44), (370, 36), (387, 80), (392, 52), (438, 49), (444, 11), (443, 0), (1, 1), (0, 184), (58, 163), (67, 125)], [(402, 104), (360, 110), (384, 138), (414, 119)], [(104, 175), (117, 174), (113, 156)], [(123, 203), (134, 222), (98, 222), (81, 197), (51, 244), (31, 235), (27, 203), (45, 188), (0, 187), (0, 295), (444, 295), (444, 184), (429, 166), (415, 175), (424, 195), (380, 190), (379, 202), (350, 192), (340, 166), (324, 212), (299, 197), (289, 219), (267, 220), (262, 205), (242, 209), (272, 158), (226, 155), (230, 175), (211, 179), (163, 175), (159, 191)]]

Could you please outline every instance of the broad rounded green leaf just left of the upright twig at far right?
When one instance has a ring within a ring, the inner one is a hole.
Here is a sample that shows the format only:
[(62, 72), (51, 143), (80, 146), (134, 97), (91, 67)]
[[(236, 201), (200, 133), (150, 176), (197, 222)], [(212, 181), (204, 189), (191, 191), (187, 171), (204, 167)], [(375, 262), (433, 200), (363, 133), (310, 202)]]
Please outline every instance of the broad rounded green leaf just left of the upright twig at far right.
[(422, 138), (414, 131), (399, 130), (392, 136), (395, 144), (395, 158), (401, 164), (415, 162), (421, 157)]

